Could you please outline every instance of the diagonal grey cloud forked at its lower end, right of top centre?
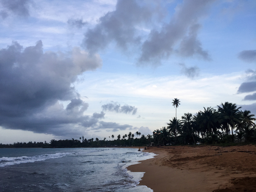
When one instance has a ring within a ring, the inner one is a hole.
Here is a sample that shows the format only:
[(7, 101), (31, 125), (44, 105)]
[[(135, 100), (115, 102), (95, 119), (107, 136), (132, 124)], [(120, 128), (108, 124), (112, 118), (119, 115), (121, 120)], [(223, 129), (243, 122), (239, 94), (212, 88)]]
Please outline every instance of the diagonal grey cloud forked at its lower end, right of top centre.
[(176, 52), (174, 47), (179, 44), (180, 50), (177, 52), (181, 55), (186, 57), (200, 55), (204, 59), (209, 59), (208, 53), (202, 50), (201, 43), (197, 40), (199, 29), (197, 22), (205, 15), (213, 1), (187, 0), (178, 5), (171, 21), (164, 25), (161, 31), (151, 31), (149, 39), (142, 45), (139, 62), (159, 65), (161, 59), (166, 59)]

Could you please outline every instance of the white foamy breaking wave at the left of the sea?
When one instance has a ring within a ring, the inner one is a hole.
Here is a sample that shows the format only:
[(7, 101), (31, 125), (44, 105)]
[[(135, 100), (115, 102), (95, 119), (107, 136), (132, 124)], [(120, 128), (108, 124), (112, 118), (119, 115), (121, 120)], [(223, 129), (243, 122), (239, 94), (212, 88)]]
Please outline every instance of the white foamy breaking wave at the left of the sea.
[(43, 154), (36, 156), (18, 156), (18, 157), (1, 157), (0, 167), (11, 166), (15, 164), (33, 163), (36, 161), (45, 161), (47, 159), (58, 159), (73, 153), (55, 153), (55, 154)]

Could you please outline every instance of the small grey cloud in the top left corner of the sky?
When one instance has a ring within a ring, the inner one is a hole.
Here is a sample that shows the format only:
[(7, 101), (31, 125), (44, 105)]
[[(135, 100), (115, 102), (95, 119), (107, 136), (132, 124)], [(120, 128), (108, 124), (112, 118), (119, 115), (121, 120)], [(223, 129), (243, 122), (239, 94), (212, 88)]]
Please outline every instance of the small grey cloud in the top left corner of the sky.
[(3, 10), (0, 12), (3, 19), (8, 16), (8, 12), (22, 17), (29, 16), (29, 5), (31, 0), (0, 0)]

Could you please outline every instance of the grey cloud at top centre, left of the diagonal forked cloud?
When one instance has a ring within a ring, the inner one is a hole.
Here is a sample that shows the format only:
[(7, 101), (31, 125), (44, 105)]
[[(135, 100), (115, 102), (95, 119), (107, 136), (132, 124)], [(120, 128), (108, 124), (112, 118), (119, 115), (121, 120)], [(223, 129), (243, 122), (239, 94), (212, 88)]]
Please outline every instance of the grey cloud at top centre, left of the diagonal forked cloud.
[(101, 17), (99, 24), (85, 33), (85, 47), (97, 52), (114, 41), (126, 50), (128, 44), (140, 43), (136, 27), (149, 21), (152, 14), (149, 7), (140, 6), (136, 0), (118, 0), (116, 10)]

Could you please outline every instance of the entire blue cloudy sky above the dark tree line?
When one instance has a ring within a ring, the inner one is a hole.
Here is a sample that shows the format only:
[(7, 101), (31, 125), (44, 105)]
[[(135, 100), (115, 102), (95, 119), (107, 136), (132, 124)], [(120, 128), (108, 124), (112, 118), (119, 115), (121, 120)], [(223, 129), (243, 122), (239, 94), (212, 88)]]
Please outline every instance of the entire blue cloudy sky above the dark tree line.
[[(0, 143), (256, 114), (255, 0), (0, 0)], [(135, 135), (136, 137), (136, 135)]]

